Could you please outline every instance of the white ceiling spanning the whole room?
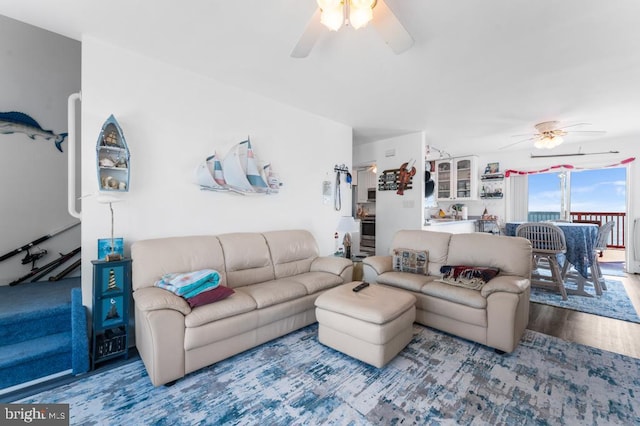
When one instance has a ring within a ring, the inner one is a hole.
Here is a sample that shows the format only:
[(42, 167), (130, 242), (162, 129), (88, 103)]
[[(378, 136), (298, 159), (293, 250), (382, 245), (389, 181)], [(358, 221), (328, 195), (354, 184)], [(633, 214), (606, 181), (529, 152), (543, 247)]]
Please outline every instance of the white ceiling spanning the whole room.
[(607, 131), (567, 144), (640, 136), (640, 1), (386, 2), (415, 39), (401, 55), (369, 26), (327, 30), (289, 57), (315, 0), (0, 0), (0, 14), (345, 123), (356, 143), (424, 130), (434, 147), (477, 154), (547, 120)]

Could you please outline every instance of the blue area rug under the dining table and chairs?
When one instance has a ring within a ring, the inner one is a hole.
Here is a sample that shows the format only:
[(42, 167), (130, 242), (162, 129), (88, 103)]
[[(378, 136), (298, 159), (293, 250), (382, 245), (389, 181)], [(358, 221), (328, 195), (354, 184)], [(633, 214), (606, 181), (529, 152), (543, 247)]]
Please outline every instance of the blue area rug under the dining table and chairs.
[[(612, 279), (607, 279), (606, 282), (607, 290), (602, 292), (602, 296), (597, 296), (593, 287), (589, 285), (585, 286), (585, 289), (591, 291), (593, 297), (569, 294), (568, 300), (562, 300), (560, 293), (557, 291), (532, 287), (530, 300), (536, 303), (572, 309), (574, 311), (586, 312), (602, 317), (640, 323), (640, 317), (633, 307), (622, 282)], [(567, 281), (565, 287), (575, 290), (577, 285), (574, 282)]]

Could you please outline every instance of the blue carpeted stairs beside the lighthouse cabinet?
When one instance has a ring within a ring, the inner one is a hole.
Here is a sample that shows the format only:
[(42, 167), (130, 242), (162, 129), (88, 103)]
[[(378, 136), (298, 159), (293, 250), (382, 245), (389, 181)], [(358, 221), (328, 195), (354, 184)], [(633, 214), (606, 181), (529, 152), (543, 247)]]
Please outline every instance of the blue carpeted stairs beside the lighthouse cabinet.
[(0, 389), (71, 369), (88, 371), (79, 285), (71, 278), (0, 288)]

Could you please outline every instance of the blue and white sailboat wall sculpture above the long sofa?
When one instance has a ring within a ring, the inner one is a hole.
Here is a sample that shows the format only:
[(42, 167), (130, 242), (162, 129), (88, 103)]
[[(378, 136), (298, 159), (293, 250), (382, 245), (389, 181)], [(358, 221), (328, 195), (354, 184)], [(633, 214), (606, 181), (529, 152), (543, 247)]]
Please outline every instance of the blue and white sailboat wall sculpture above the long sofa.
[(273, 194), (282, 185), (271, 164), (258, 161), (249, 138), (232, 146), (223, 158), (207, 157), (196, 168), (195, 177), (200, 189), (239, 194)]

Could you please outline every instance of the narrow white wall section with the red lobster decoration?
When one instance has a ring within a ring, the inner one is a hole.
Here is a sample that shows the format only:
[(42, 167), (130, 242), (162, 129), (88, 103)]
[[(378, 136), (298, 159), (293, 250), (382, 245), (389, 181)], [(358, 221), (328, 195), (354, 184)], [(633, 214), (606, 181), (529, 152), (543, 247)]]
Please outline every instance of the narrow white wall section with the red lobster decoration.
[[(389, 254), (393, 235), (400, 229), (421, 229), (424, 223), (424, 133), (385, 139), (354, 146), (355, 164), (375, 161), (378, 176), (384, 170), (398, 169), (415, 160), (416, 175), (412, 189), (398, 195), (396, 191), (378, 191), (376, 196), (376, 254)], [(393, 156), (387, 154), (393, 152)]]

